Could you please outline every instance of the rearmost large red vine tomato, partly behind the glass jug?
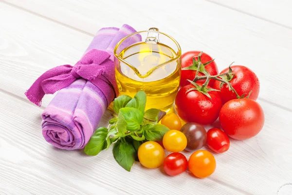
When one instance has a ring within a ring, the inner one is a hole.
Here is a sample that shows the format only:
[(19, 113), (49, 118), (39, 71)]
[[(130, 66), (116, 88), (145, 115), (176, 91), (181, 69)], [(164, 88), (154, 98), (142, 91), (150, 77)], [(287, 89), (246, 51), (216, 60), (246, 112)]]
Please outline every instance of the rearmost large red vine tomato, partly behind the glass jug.
[[(189, 51), (189, 52), (186, 52), (182, 55), (182, 68), (184, 67), (187, 67), (187, 66), (190, 66), (193, 64), (193, 58), (195, 56), (198, 56), (201, 52), (200, 51)], [(198, 60), (198, 57), (195, 58), (196, 60)], [(201, 63), (206, 63), (208, 61), (212, 60), (212, 58), (206, 54), (206, 53), (203, 53), (201, 55)], [(208, 65), (205, 65), (205, 69), (206, 71), (210, 74), (210, 75), (218, 75), (218, 67), (215, 63), (215, 61), (212, 61), (211, 63), (209, 63)], [(190, 84), (189, 81), (187, 81), (186, 79), (189, 79), (189, 80), (193, 80), (195, 78), (195, 75), (196, 75), (196, 72), (195, 70), (182, 70), (182, 76), (181, 76), (181, 83), (180, 83), (180, 86), (183, 87), (185, 85), (188, 85)], [(204, 74), (202, 73), (198, 73), (199, 76), (204, 76)], [(197, 83), (204, 83), (206, 80), (198, 80)], [(212, 86), (213, 83), (214, 83), (214, 79), (210, 79), (210, 82), (209, 82), (209, 86)]]

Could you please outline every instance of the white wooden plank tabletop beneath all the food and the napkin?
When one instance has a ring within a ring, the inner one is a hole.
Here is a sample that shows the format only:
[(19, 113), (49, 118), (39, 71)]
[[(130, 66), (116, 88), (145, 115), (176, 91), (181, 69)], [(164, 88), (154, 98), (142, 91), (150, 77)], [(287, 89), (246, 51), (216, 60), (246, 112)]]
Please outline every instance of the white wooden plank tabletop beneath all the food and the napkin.
[[(85, 156), (42, 137), (53, 96), (39, 108), (25, 90), (46, 70), (74, 64), (98, 29), (123, 23), (158, 27), (220, 70), (236, 61), (258, 75), (265, 126), (215, 155), (212, 176), (170, 177), (139, 163), (128, 173), (111, 151)], [(0, 0), (0, 195), (292, 195), (291, 59), (291, 0)]]

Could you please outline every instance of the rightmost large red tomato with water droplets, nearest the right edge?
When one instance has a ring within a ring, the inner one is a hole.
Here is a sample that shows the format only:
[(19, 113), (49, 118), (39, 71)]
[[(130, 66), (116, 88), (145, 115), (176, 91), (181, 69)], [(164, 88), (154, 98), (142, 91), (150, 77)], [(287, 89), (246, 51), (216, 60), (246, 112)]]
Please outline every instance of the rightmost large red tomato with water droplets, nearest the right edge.
[(225, 103), (219, 114), (222, 130), (238, 140), (256, 136), (264, 126), (261, 106), (253, 99), (232, 99)]

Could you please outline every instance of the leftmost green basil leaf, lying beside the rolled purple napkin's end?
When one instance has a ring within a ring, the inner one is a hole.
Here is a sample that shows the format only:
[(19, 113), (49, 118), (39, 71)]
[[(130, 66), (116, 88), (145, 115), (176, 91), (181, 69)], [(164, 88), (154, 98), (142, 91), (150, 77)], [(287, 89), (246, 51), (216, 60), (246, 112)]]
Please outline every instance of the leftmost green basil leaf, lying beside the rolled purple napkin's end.
[(84, 148), (85, 154), (95, 156), (98, 155), (100, 151), (105, 149), (107, 134), (108, 134), (107, 128), (105, 127), (98, 128), (91, 136), (89, 142), (86, 144)]

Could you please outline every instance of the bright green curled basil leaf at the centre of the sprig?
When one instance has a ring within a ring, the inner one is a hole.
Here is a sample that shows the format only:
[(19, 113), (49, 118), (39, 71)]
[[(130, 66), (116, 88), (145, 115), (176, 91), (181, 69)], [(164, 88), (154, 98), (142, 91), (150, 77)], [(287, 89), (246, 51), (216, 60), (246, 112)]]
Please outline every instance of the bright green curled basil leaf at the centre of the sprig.
[(143, 114), (140, 110), (136, 108), (121, 108), (119, 112), (120, 115), (127, 122), (128, 131), (137, 131), (143, 122)]

